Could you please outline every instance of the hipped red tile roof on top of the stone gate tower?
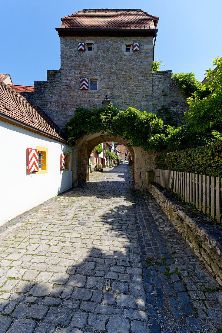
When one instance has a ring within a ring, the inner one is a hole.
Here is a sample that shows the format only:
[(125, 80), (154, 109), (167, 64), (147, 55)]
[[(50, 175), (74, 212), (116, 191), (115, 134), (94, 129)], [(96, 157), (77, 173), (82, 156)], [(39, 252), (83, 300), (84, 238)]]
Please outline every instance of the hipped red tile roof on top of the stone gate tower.
[(61, 18), (60, 28), (155, 29), (158, 20), (141, 9), (83, 9)]

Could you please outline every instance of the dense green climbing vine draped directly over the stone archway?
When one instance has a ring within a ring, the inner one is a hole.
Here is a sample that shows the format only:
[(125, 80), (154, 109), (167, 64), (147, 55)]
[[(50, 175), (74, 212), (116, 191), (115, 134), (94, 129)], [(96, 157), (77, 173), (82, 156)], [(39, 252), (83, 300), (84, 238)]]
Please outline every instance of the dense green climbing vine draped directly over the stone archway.
[[(70, 144), (84, 135), (102, 131), (110, 136), (120, 136), (128, 146), (152, 149), (152, 139), (164, 133), (163, 120), (155, 114), (135, 108), (118, 111), (110, 106), (108, 111), (100, 109), (78, 108), (64, 128)], [(156, 139), (155, 139), (156, 140)]]

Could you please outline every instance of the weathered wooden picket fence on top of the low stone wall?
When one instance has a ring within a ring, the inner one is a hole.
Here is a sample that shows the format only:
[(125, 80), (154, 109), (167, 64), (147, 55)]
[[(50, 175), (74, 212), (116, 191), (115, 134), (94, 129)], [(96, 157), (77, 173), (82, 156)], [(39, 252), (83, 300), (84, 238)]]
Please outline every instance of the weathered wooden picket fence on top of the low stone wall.
[(222, 178), (203, 174), (155, 169), (154, 181), (170, 188), (186, 202), (222, 223)]

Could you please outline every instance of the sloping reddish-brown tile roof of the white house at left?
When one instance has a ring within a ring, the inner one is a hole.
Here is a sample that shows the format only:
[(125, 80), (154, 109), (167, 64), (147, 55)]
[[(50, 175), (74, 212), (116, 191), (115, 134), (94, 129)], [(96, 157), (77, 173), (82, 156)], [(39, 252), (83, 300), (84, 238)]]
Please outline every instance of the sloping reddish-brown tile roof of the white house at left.
[(0, 80), (0, 118), (4, 115), (11, 117), (12, 121), (13, 119), (19, 120), (34, 127), (37, 131), (43, 131), (55, 140), (64, 140), (59, 128), (41, 109), (28, 102), (25, 97)]

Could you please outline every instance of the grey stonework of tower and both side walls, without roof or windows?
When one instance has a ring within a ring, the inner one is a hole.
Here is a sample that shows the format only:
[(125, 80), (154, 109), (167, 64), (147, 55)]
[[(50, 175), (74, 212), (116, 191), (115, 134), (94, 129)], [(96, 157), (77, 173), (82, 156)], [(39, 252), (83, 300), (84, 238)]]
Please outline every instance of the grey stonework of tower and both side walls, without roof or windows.
[[(78, 51), (81, 41), (93, 43), (93, 51)], [(125, 45), (133, 42), (139, 42), (140, 51), (125, 52)], [(101, 107), (105, 95), (120, 110), (133, 106), (158, 113), (164, 105), (176, 124), (183, 125), (186, 99), (172, 84), (171, 71), (152, 74), (152, 55), (152, 37), (61, 37), (61, 68), (47, 71), (47, 81), (34, 82), (34, 93), (22, 95), (60, 127), (77, 107)], [(80, 77), (98, 79), (98, 90), (80, 90)], [(162, 116), (168, 117), (164, 111)]]

